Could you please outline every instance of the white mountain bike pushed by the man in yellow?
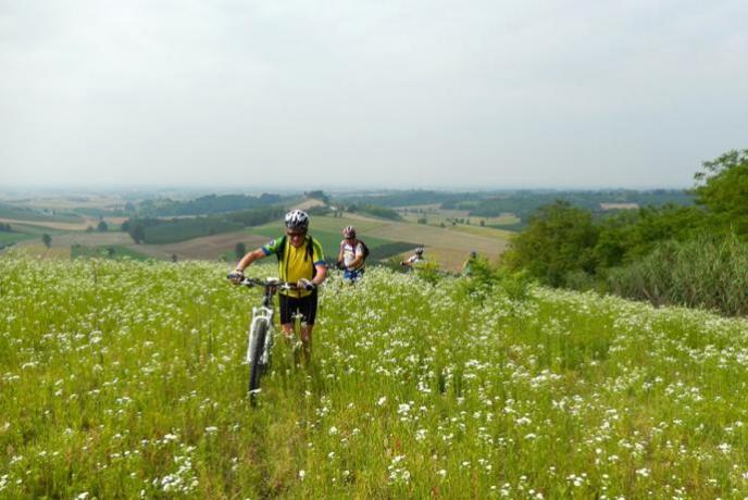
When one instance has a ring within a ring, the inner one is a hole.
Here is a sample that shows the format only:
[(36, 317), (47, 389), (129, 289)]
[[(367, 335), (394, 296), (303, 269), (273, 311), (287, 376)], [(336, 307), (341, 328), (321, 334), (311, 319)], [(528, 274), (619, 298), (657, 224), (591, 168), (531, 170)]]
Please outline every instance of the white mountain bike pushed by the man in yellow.
[[(232, 279), (233, 274), (228, 275)], [(242, 277), (238, 285), (247, 288), (262, 287), (264, 289), (262, 305), (252, 308), (252, 321), (249, 324), (247, 337), (247, 364), (249, 365), (249, 397), (252, 405), (257, 403), (257, 395), (260, 392), (260, 379), (267, 372), (271, 364), (273, 346), (275, 342), (275, 327), (273, 316), (273, 296), (278, 290), (298, 290), (296, 284), (286, 283), (278, 278), (258, 279)], [(296, 320), (295, 320), (296, 323)], [(294, 342), (295, 354), (301, 348), (301, 341), (295, 338), (289, 339)]]

